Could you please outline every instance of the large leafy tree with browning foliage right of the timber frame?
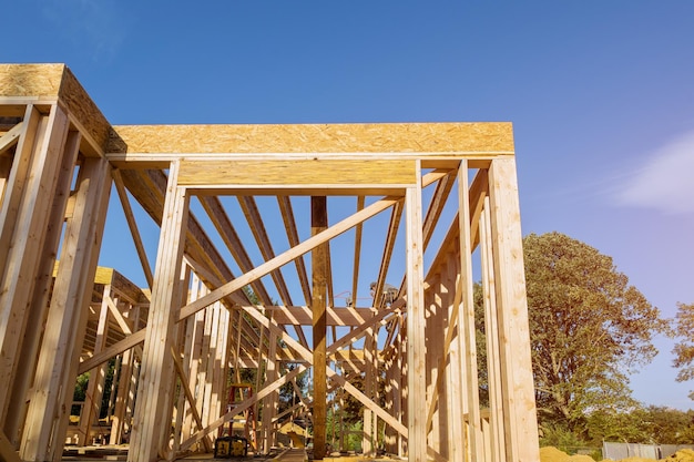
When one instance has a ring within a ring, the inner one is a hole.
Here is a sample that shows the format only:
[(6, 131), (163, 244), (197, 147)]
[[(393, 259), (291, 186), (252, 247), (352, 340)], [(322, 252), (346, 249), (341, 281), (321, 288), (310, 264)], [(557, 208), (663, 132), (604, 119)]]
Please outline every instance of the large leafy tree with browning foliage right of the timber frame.
[(589, 412), (635, 404), (627, 374), (655, 356), (667, 322), (586, 244), (531, 234), (523, 251), (540, 424), (585, 433)]

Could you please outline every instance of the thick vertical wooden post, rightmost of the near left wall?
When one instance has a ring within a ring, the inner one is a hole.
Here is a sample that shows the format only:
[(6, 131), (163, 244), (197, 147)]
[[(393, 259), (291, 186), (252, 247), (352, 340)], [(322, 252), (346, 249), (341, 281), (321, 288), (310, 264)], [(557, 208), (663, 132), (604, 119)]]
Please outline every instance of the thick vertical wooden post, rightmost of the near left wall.
[(23, 460), (60, 460), (111, 192), (105, 158), (84, 158), (68, 219), (22, 434)]

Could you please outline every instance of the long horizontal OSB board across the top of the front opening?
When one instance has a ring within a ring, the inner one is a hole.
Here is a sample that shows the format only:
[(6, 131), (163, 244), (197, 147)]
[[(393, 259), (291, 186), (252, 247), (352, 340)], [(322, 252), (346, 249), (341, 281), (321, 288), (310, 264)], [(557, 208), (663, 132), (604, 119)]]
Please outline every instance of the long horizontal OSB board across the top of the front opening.
[(511, 123), (118, 125), (110, 153), (512, 154)]

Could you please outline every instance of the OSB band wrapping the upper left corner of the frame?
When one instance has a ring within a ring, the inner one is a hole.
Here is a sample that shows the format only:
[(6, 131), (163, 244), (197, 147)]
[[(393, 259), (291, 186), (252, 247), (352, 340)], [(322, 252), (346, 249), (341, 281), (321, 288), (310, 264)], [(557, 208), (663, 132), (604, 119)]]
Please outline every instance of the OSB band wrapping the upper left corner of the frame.
[(65, 64), (0, 64), (0, 96), (58, 100), (100, 150), (111, 125)]

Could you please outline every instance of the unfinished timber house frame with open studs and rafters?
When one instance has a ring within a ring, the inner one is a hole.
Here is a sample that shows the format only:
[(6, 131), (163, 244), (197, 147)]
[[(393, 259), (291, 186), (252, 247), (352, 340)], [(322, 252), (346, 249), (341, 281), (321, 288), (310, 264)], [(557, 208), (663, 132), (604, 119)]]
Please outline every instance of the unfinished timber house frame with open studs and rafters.
[[(267, 452), (278, 389), (305, 370), (312, 396), (298, 390), (287, 415), (313, 421), (315, 459), (348, 393), (364, 405), (365, 455), (538, 461), (513, 150), (509, 123), (111, 126), (65, 65), (0, 64), (0, 459), (59, 461), (72, 433), (91, 441), (115, 358), (109, 438), (129, 434), (129, 461), (210, 452), (244, 412)], [(143, 290), (98, 270), (112, 189)], [(328, 220), (337, 199), (353, 212)], [(282, 218), (264, 220), (261, 201)], [(154, 265), (133, 206), (160, 226)], [(446, 207), (455, 218), (438, 226)], [(367, 232), (379, 214), (385, 233)], [(366, 239), (380, 242), (378, 268), (360, 264)], [(254, 392), (227, 407), (242, 368), (257, 370)]]

